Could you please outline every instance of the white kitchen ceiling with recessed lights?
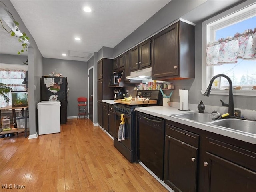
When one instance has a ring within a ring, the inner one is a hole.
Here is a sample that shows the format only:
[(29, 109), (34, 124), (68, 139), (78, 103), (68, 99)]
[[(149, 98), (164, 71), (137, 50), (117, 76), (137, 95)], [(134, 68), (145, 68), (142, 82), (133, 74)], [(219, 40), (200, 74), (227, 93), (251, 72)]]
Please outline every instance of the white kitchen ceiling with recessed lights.
[[(81, 56), (85, 54), (90, 57), (102, 46), (113, 48), (170, 0), (11, 2), (43, 57), (87, 61), (89, 58)], [(84, 12), (85, 6), (89, 6), (92, 12)], [(74, 40), (77, 36), (81, 38), (80, 42)], [(62, 56), (62, 53), (70, 52), (73, 56)]]

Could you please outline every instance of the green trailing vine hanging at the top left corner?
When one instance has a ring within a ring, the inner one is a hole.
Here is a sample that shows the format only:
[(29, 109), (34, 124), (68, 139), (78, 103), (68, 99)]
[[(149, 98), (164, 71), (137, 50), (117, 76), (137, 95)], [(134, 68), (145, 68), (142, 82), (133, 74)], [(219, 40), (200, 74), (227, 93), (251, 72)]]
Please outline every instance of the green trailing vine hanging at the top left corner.
[[(2, 1), (0, 1), (0, 3), (4, 4), (4, 2), (2, 2)], [(7, 6), (6, 6), (5, 4), (4, 4), (4, 6), (5, 6), (5, 10), (12, 16), (12, 14), (9, 12)], [(16, 32), (20, 32), (20, 30), (19, 30), (19, 28), (18, 28), (19, 23), (14, 19), (13, 16), (12, 16), (12, 20), (13, 20), (13, 22), (14, 22), (14, 24), (15, 24)], [(28, 51), (28, 43), (27, 43), (28, 41), (27, 41), (27, 40), (29, 40), (29, 37), (26, 35), (26, 33), (25, 33), (25, 32), (21, 32), (22, 35), (21, 35), (21, 36), (17, 36), (16, 33), (15, 33), (13, 30), (8, 31), (8, 30), (4, 27), (1, 18), (0, 18), (0, 22), (1, 22), (1, 25), (2, 25), (2, 27), (4, 28), (4, 30), (6, 30), (6, 32), (10, 33), (12, 37), (13, 37), (13, 36), (18, 37), (18, 41), (22, 43), (22, 45), (21, 45), (21, 46), (22, 46), (22, 49), (21, 49), (20, 51), (18, 51), (18, 55), (21, 54), (21, 53), (23, 53), (25, 50)]]

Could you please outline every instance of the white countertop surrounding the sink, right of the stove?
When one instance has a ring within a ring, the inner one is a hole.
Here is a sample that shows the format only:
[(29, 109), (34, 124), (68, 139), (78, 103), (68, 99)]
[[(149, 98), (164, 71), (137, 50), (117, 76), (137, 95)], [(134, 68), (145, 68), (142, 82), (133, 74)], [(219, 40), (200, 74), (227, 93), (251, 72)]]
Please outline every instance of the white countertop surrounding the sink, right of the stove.
[[(198, 129), (206, 130), (209, 132), (213, 132), (216, 134), (228, 136), (230, 138), (242, 140), (248, 143), (256, 144), (256, 135), (251, 135), (251, 134), (246, 134), (246, 133), (240, 133), (236, 132), (232, 129), (228, 128), (221, 128), (219, 126), (214, 126), (211, 124), (206, 124), (206, 123), (200, 123), (200, 122), (195, 122), (192, 120), (184, 119), (184, 118), (178, 118), (178, 117), (173, 117), (171, 115), (173, 114), (180, 114), (180, 113), (187, 113), (188, 111), (180, 111), (176, 107), (163, 107), (163, 106), (151, 106), (151, 107), (138, 107), (135, 108), (136, 111), (140, 111), (146, 114), (150, 114), (156, 117), (161, 117), (167, 120), (171, 120), (174, 122), (178, 122), (181, 124), (185, 124), (188, 126), (192, 126)], [(190, 112), (193, 112), (191, 110)]]

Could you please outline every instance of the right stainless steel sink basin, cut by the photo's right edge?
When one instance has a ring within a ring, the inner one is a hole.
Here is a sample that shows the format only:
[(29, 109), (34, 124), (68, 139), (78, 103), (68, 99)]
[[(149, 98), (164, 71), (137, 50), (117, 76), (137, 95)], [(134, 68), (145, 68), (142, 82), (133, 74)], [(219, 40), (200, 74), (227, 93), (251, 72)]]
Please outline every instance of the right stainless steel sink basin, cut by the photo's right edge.
[(248, 121), (248, 120), (242, 120), (242, 119), (221, 119), (221, 120), (209, 122), (209, 124), (233, 129), (239, 132), (256, 134), (256, 121)]

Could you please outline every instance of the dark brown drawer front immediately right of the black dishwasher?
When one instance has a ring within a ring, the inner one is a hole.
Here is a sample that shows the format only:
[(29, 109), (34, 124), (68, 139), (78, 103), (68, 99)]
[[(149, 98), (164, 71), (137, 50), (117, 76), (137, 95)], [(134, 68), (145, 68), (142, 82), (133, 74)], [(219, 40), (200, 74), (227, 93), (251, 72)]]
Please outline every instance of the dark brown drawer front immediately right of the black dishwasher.
[(198, 134), (194, 134), (170, 125), (166, 126), (166, 134), (198, 148), (198, 144), (199, 144)]

